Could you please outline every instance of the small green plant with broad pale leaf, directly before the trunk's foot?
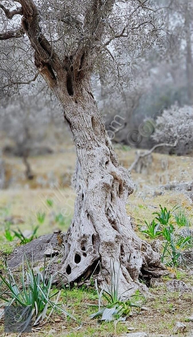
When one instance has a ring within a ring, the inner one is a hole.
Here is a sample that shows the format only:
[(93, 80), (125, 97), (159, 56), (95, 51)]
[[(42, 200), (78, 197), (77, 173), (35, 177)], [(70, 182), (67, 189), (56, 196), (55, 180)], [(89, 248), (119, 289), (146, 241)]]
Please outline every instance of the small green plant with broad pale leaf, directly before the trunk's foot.
[[(102, 273), (102, 270), (101, 270)], [(111, 261), (111, 284), (110, 286), (106, 283), (105, 278), (105, 289), (102, 289), (101, 292), (99, 292), (97, 280), (95, 280), (95, 287), (99, 298), (98, 308), (99, 310), (93, 314), (90, 315), (90, 318), (99, 317), (101, 316), (101, 320), (104, 320), (105, 322), (109, 322), (112, 320), (116, 321), (124, 321), (126, 320), (127, 316), (131, 312), (131, 307), (140, 308), (139, 303), (135, 303), (135, 301), (131, 301), (132, 297), (139, 297), (138, 295), (131, 296), (129, 300), (122, 301), (122, 296), (128, 291), (131, 290), (128, 289), (126, 292), (122, 293), (120, 296), (118, 295), (118, 289), (119, 289), (119, 274), (120, 274), (120, 266), (118, 269), (118, 273), (115, 272), (115, 266), (114, 263)], [(102, 274), (103, 275), (103, 274)], [(107, 302), (107, 304), (101, 304), (102, 298), (104, 298)]]

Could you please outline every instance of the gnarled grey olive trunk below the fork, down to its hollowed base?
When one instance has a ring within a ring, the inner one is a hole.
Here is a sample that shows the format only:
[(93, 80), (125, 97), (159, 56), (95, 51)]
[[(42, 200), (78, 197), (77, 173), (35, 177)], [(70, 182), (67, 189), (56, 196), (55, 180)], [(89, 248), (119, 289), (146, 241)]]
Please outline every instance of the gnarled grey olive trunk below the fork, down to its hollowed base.
[(119, 166), (90, 90), (85, 82), (75, 97), (61, 90), (56, 93), (77, 149), (77, 197), (61, 272), (72, 282), (91, 274), (100, 260), (103, 276), (110, 282), (113, 263), (116, 274), (120, 273), (119, 293), (130, 289), (128, 297), (139, 286), (142, 265), (164, 267), (159, 254), (132, 229), (126, 202), (134, 185), (128, 171)]

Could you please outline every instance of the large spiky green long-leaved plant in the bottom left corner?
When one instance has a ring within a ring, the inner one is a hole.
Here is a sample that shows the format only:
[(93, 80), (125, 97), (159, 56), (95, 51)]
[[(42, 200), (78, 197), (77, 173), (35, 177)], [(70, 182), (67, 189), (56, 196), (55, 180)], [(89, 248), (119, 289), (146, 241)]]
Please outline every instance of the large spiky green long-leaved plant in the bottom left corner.
[[(25, 263), (27, 264), (27, 271), (24, 271)], [(75, 319), (64, 309), (62, 304), (58, 303), (61, 290), (51, 294), (51, 285), (54, 276), (50, 274), (50, 263), (46, 267), (46, 257), (44, 260), (43, 274), (39, 271), (39, 268), (34, 271), (33, 261), (30, 265), (26, 256), (25, 263), (23, 256), (22, 275), (21, 280), (18, 282), (7, 265), (7, 277), (0, 274), (0, 300), (3, 301), (0, 307), (20, 305), (26, 308), (30, 306), (33, 325), (40, 324), (45, 318), (48, 320), (53, 311), (60, 316), (64, 315), (65, 317), (69, 316)], [(3, 288), (5, 288), (5, 290), (3, 290)], [(52, 300), (54, 296), (56, 298)], [(49, 312), (48, 316), (47, 312)]]

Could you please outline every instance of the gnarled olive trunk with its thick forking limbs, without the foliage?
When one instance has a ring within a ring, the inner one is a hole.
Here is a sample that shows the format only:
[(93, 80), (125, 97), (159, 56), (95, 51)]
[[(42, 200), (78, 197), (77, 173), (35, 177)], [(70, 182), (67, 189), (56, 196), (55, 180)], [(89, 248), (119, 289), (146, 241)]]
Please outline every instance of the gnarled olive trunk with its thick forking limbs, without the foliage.
[[(125, 294), (129, 296), (139, 287), (142, 268), (146, 273), (155, 269), (156, 274), (156, 268), (164, 266), (159, 254), (132, 229), (126, 202), (134, 185), (128, 171), (119, 165), (91, 92), (93, 61), (104, 28), (102, 19), (108, 17), (114, 1), (107, 0), (102, 9), (101, 1), (91, 2), (85, 15), (84, 43), (80, 42), (76, 52), (63, 61), (42, 35), (33, 1), (19, 2), (23, 13), (21, 30), (35, 50), (38, 71), (64, 108), (77, 150), (77, 197), (61, 271), (72, 282), (88, 276), (100, 260), (103, 276), (110, 282), (113, 262), (117, 274), (120, 268), (119, 293), (130, 289)], [(0, 38), (4, 39), (5, 34)]]

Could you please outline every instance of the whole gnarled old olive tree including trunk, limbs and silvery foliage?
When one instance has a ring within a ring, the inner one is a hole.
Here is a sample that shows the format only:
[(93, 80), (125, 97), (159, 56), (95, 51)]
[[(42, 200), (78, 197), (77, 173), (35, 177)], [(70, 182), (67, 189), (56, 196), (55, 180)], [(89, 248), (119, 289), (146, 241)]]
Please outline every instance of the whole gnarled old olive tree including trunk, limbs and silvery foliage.
[(147, 0), (14, 3), (12, 10), (6, 1), (0, 7), (9, 20), (21, 16), (21, 26), (11, 30), (8, 21), (0, 39), (28, 37), (34, 64), (60, 101), (76, 146), (77, 197), (64, 241), (63, 282), (66, 277), (72, 282), (88, 276), (98, 261), (110, 282), (113, 262), (119, 292), (127, 290), (125, 296), (129, 296), (139, 288), (142, 269), (156, 274), (164, 266), (160, 255), (132, 229), (126, 202), (134, 184), (113, 150), (92, 94), (91, 76), (100, 67), (108, 71), (109, 65), (120, 76), (117, 40), (128, 50), (130, 43), (132, 48), (137, 46), (142, 35), (146, 45), (152, 44), (157, 31), (151, 16), (158, 12), (149, 8)]

